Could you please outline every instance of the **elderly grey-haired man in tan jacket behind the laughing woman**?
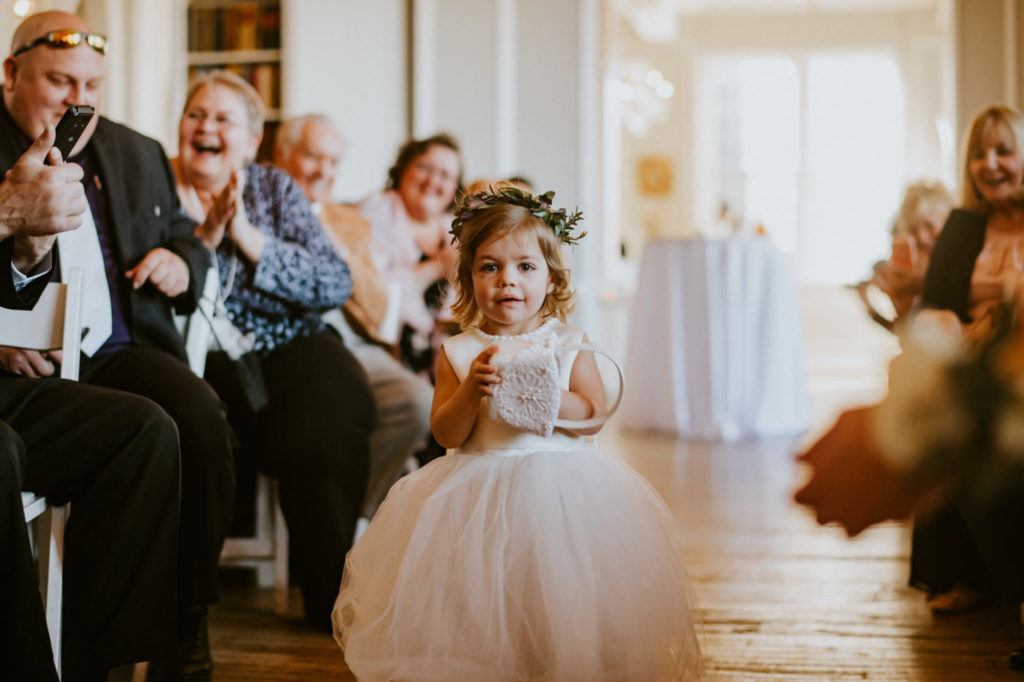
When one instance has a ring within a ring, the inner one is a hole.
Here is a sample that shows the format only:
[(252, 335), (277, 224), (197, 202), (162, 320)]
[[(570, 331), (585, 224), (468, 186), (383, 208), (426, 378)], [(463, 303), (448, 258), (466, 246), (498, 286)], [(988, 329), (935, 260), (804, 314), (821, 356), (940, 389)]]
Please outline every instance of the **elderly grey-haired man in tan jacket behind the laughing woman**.
[(327, 118), (303, 116), (282, 124), (273, 160), (305, 191), (352, 274), (351, 297), (327, 319), (367, 371), (377, 399), (378, 426), (370, 441), (370, 481), (362, 506), (364, 517), (370, 518), (401, 476), (406, 461), (426, 442), (433, 389), (398, 364), (385, 341), (389, 335), (381, 333), (388, 291), (370, 255), (370, 223), (354, 208), (330, 201), (344, 146)]

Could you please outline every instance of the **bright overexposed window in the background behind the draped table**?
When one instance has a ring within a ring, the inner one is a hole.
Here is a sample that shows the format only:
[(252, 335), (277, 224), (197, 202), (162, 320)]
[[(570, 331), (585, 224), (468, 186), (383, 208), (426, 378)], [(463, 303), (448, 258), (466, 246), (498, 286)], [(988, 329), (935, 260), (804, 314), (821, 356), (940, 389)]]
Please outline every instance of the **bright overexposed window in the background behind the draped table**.
[(763, 224), (795, 254), (801, 281), (861, 279), (888, 251), (906, 182), (894, 59), (725, 54), (702, 59), (697, 74), (695, 224)]

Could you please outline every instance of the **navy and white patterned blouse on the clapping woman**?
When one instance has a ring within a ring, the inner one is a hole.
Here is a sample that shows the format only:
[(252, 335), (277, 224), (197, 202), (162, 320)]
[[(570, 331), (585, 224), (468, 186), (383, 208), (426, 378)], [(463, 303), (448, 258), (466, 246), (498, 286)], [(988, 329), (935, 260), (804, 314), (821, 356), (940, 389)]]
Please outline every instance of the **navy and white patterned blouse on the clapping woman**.
[(266, 235), (266, 244), (254, 264), (233, 242), (221, 242), (216, 251), (220, 291), (227, 292), (228, 318), (243, 334), (251, 334), (254, 350), (265, 355), (326, 329), (321, 313), (345, 302), (352, 280), (287, 173), (251, 164), (243, 201), (246, 216)]

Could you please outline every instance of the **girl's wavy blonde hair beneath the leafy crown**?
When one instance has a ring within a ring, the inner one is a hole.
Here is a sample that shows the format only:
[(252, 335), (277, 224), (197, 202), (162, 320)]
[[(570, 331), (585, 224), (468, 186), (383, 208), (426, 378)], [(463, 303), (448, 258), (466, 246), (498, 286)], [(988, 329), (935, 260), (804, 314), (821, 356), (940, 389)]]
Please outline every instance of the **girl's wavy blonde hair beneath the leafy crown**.
[(575, 292), (569, 288), (569, 269), (562, 261), (562, 243), (546, 222), (514, 204), (488, 206), (467, 220), (459, 232), (459, 262), (456, 267), (458, 298), (452, 304), (452, 313), (463, 329), (478, 325), (482, 314), (473, 296), (473, 261), (480, 246), (494, 238), (507, 237), (520, 231), (532, 232), (548, 264), (553, 288), (544, 297), (541, 319), (558, 317), (565, 322), (572, 311)]

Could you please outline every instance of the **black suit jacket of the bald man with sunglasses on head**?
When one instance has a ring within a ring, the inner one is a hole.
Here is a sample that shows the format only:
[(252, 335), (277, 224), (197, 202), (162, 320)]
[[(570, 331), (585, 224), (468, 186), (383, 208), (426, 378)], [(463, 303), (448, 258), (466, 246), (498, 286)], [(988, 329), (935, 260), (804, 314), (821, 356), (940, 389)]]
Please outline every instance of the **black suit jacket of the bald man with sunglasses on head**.
[[(22, 156), (24, 137), (0, 108), (0, 177)], [(210, 253), (194, 235), (195, 223), (181, 211), (174, 174), (167, 155), (155, 139), (100, 118), (88, 151), (95, 155), (99, 179), (109, 207), (109, 229), (114, 237), (120, 275), (134, 267), (151, 250), (169, 249), (188, 265), (188, 290), (173, 301), (146, 285), (125, 287), (126, 322), (137, 345), (155, 346), (186, 359), (172, 312), (196, 309), (203, 291)], [(10, 242), (0, 243), (0, 305), (31, 307), (41, 285), (15, 293), (10, 282)], [(172, 310), (173, 308), (173, 310)]]

